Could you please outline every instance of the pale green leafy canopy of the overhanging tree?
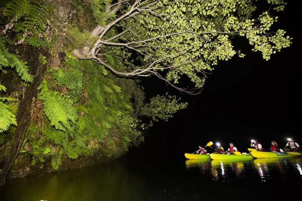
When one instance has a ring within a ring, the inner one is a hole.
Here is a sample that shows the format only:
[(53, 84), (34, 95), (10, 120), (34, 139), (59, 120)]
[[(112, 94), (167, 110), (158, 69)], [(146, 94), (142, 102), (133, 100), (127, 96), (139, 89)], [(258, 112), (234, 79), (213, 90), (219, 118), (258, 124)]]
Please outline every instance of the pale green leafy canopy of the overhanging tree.
[[(218, 61), (229, 60), (236, 54), (244, 57), (232, 45), (234, 36), (246, 37), (253, 51), (261, 52), (265, 60), (291, 44), (292, 38), (284, 30), (270, 30), (276, 17), (263, 12), (252, 18), (256, 9), (252, 0), (160, 0), (154, 5), (152, 2), (123, 3), (120, 16), (131, 8), (141, 12), (133, 12), (133, 17), (127, 15), (114, 26), (106, 23), (111, 30), (125, 31), (118, 39), (106, 43), (112, 36), (108, 31), (102, 38), (104, 42), (100, 42), (101, 53), (110, 52), (116, 60), (120, 59), (119, 65), (114, 65), (119, 72), (153, 74), (175, 87), (179, 79), (187, 76), (196, 88), (201, 88), (205, 72), (213, 70)], [(277, 11), (286, 5), (282, 0), (268, 3)], [(133, 51), (140, 55), (142, 66), (136, 66), (132, 60)]]

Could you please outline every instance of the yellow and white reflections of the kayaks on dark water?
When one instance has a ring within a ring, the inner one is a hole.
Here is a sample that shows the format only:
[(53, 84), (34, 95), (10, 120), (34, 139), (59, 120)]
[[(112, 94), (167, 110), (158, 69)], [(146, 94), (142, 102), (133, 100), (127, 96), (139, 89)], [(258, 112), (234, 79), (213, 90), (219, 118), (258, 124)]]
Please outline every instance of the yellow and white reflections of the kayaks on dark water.
[(209, 160), (209, 159), (190, 159), (187, 160), (187, 170), (198, 168), (202, 174), (211, 174), (214, 181), (224, 181), (226, 177), (235, 176), (237, 179), (245, 176), (247, 171), (257, 172), (259, 180), (265, 182), (271, 179), (274, 173), (278, 177), (287, 179), (289, 168), (295, 168), (296, 174), (302, 175), (302, 159), (297, 158), (265, 158), (265, 159), (244, 159), (244, 160)]

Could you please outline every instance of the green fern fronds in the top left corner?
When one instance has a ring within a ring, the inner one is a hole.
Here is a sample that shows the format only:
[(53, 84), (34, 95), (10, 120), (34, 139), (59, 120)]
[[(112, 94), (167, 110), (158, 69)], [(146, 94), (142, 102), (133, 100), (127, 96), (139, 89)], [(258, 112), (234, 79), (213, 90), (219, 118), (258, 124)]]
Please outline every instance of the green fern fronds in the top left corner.
[(50, 14), (53, 14), (53, 8), (44, 1), (37, 0), (13, 0), (6, 5), (4, 12), (9, 21), (17, 21), (24, 17), (22, 26), (33, 31), (35, 35), (46, 31)]

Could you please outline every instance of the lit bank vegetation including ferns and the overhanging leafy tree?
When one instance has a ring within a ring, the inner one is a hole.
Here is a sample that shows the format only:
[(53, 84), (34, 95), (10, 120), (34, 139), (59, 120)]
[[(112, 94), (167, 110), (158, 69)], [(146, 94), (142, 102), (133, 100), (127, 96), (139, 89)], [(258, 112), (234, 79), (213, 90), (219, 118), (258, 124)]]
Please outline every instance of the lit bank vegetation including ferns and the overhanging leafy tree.
[[(277, 11), (286, 5), (268, 3)], [(291, 43), (284, 30), (270, 31), (278, 17), (252, 16), (252, 0), (12, 0), (0, 7), (2, 184), (19, 154), (54, 170), (62, 156), (117, 157), (153, 121), (186, 108), (169, 94), (145, 100), (140, 77), (197, 94), (219, 60), (244, 57), (234, 37), (246, 37), (266, 60)], [(193, 89), (179, 85), (185, 76)]]

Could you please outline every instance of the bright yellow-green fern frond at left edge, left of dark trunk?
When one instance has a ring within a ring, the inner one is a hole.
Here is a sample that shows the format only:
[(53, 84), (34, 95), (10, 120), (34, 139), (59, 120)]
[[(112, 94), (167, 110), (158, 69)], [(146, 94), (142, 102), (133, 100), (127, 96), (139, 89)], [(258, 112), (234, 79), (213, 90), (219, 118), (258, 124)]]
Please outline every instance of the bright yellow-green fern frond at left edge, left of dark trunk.
[(0, 101), (0, 133), (8, 130), (11, 124), (17, 126), (15, 115), (8, 110), (8, 105)]

